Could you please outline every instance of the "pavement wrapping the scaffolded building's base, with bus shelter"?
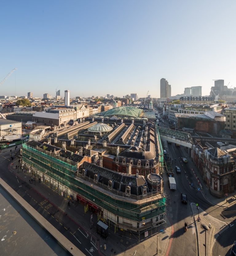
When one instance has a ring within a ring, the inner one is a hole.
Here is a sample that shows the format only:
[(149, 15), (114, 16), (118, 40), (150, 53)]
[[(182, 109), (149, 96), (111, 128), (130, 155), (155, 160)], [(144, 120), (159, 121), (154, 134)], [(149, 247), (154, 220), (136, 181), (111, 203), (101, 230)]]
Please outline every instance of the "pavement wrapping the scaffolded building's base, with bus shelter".
[[(70, 207), (68, 207), (68, 201), (65, 200), (61, 195), (54, 192), (50, 189), (47, 185), (42, 182), (38, 182), (36, 178), (36, 182), (29, 183), (29, 179), (32, 177), (32, 174), (29, 173), (28, 170), (23, 172), (23, 170), (16, 169), (16, 165), (18, 165), (18, 161), (15, 159), (13, 161), (13, 165), (9, 165), (9, 169), (15, 173), (21, 180), (27, 182), (33, 189), (37, 190), (42, 196), (52, 202), (60, 211), (61, 213), (73, 219), (82, 229), (84, 229), (87, 233), (91, 233), (93, 236), (94, 241), (96, 241), (96, 245), (99, 247), (98, 250), (101, 255), (133, 255), (136, 251), (136, 255), (155, 255), (157, 252), (157, 236), (153, 235), (150, 237), (151, 234), (148, 234), (146, 240), (142, 242), (138, 242), (133, 240), (132, 237), (123, 236), (121, 234), (116, 234), (112, 230), (114, 230), (113, 226), (111, 229), (108, 229), (108, 237), (106, 240), (102, 239), (96, 233), (96, 222), (97, 222), (97, 215), (93, 214), (92, 221), (93, 225), (90, 229), (90, 216), (91, 212), (88, 211), (85, 213), (84, 205), (78, 203), (77, 201), (73, 204), (71, 202)], [(64, 217), (65, 221), (65, 217)], [(166, 251), (169, 247), (169, 241), (171, 239), (171, 232), (172, 227), (167, 219), (166, 229), (160, 226), (157, 229), (161, 230), (164, 229), (163, 232), (158, 233), (158, 255), (165, 255)], [(128, 233), (128, 232), (127, 232)], [(106, 250), (104, 250), (104, 244), (106, 244)]]

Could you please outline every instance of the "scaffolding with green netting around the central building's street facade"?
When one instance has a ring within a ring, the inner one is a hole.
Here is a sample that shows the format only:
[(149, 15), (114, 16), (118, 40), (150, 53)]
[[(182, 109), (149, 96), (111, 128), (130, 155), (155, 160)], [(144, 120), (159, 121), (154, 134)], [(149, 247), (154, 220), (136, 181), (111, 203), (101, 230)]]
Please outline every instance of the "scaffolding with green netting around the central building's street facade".
[[(166, 222), (166, 195), (153, 192), (147, 196), (124, 196), (104, 184), (94, 184), (93, 179), (78, 172), (78, 163), (52, 152), (27, 144), (22, 146), (22, 162), (34, 177), (64, 198), (84, 198), (85, 212), (89, 205), (98, 209), (98, 220), (113, 225), (114, 232), (132, 233), (140, 241), (144, 232), (156, 233), (156, 228)], [(149, 221), (148, 221), (149, 220)], [(153, 223), (153, 225), (152, 225)], [(155, 229), (155, 230), (153, 230)]]

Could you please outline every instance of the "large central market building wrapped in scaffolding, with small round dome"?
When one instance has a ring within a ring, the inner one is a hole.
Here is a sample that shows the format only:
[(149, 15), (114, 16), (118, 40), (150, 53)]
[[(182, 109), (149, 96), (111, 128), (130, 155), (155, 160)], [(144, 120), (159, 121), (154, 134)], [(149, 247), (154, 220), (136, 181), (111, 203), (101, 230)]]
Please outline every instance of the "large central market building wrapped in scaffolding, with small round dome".
[[(77, 131), (75, 126), (66, 126), (43, 134), (41, 140), (23, 144), (22, 167), (65, 199), (83, 204), (85, 213), (96, 213), (97, 221), (104, 222), (115, 233), (140, 241), (147, 231), (148, 236), (159, 232), (158, 227), (166, 222), (166, 195), (160, 175), (162, 149), (155, 151), (155, 140), (159, 140), (155, 126), (123, 123), (122, 129), (118, 129), (116, 124), (114, 134), (112, 124), (108, 129), (107, 125), (88, 123), (78, 125)], [(70, 129), (73, 136), (66, 140), (65, 132), (68, 134)], [(110, 138), (112, 133), (114, 141), (117, 136), (122, 137), (125, 145), (108, 144), (106, 137)], [(140, 135), (132, 143), (137, 133)], [(32, 131), (32, 134), (36, 136), (40, 132)], [(102, 139), (97, 137), (96, 142), (91, 143), (93, 134)], [(88, 138), (89, 143), (85, 145)]]

